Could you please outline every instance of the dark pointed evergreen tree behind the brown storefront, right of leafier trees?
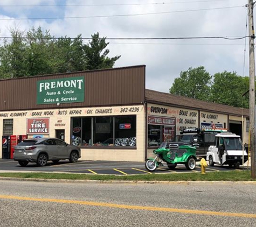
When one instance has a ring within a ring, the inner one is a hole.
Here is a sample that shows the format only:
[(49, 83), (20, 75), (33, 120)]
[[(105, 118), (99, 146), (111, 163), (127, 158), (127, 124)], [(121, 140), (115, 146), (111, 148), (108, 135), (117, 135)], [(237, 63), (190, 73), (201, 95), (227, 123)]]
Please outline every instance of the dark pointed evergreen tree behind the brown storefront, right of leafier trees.
[[(120, 56), (109, 58), (109, 49), (106, 49), (109, 42), (106, 42), (106, 37), (100, 38), (99, 33), (92, 35), (92, 41), (84, 46), (86, 56), (86, 69), (103, 69), (113, 68), (115, 61)], [(103, 52), (103, 53), (102, 53)]]

